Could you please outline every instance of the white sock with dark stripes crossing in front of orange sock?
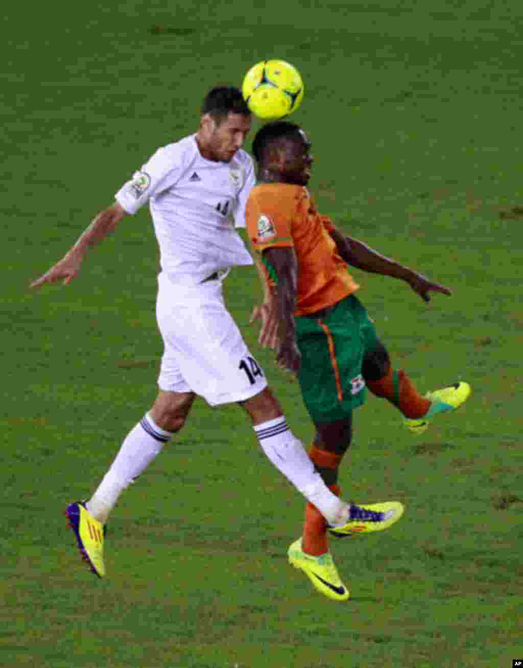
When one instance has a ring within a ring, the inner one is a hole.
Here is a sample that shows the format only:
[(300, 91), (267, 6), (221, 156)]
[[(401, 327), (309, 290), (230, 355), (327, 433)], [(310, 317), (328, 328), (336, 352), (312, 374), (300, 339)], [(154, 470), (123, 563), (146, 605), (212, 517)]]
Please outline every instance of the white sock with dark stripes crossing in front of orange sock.
[(347, 504), (323, 482), (305, 448), (287, 426), (285, 415), (254, 427), (263, 452), (303, 496), (314, 504), (329, 524), (341, 524)]

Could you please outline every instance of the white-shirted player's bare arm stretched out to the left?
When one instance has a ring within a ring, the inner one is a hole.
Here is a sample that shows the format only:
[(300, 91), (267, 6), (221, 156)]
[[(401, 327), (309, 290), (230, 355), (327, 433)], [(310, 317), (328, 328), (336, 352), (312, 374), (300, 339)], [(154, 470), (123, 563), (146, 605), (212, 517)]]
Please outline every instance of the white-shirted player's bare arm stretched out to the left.
[(29, 287), (39, 288), (44, 283), (68, 285), (79, 273), (83, 256), (89, 248), (103, 241), (106, 236), (114, 232), (116, 226), (126, 215), (126, 210), (116, 202), (104, 211), (101, 211), (90, 226), (81, 234), (77, 242), (65, 256)]

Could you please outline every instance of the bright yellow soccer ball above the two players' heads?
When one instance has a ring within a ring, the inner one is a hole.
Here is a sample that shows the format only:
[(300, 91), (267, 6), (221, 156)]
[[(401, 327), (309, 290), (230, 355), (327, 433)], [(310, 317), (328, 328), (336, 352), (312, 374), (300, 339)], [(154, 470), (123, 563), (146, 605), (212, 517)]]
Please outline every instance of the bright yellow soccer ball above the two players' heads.
[(285, 60), (263, 60), (253, 65), (242, 83), (248, 108), (264, 121), (292, 114), (303, 100), (299, 71)]

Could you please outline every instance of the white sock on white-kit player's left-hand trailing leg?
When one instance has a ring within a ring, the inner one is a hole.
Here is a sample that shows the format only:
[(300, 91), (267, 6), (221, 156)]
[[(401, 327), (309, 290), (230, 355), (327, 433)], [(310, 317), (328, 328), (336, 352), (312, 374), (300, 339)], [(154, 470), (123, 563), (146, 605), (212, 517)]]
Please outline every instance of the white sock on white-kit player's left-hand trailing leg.
[(98, 522), (107, 521), (120, 494), (146, 470), (171, 438), (172, 433), (160, 429), (149, 413), (129, 432), (111, 468), (85, 504)]

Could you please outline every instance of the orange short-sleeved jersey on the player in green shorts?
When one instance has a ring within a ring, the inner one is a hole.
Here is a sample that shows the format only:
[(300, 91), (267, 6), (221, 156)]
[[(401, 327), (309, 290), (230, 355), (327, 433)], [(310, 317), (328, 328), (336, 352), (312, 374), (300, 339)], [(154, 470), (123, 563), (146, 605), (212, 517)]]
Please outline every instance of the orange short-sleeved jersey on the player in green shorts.
[[(298, 259), (295, 315), (315, 313), (351, 295), (359, 285), (347, 271), (329, 234), (333, 224), (320, 216), (307, 188), (287, 183), (258, 184), (245, 208), (247, 234), (259, 253), (294, 248)], [(267, 281), (275, 281), (263, 265)]]

